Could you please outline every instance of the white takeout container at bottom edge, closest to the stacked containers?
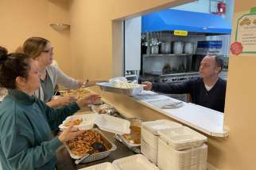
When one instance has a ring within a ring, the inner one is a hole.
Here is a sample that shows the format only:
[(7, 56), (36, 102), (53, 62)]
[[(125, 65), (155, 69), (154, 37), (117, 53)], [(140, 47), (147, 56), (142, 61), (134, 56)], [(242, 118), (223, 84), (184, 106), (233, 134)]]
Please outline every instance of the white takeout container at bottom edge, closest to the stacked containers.
[(142, 154), (123, 157), (113, 162), (114, 166), (119, 170), (159, 170), (156, 165), (149, 162)]

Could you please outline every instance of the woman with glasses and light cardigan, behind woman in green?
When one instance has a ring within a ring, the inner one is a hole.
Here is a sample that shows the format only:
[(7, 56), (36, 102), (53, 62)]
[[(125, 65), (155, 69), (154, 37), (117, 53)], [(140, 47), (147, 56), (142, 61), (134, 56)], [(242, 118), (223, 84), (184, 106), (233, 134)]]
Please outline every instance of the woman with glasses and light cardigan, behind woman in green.
[(37, 60), (38, 67), (41, 72), (41, 87), (36, 91), (36, 96), (45, 101), (50, 107), (56, 108), (64, 104), (68, 104), (74, 97), (62, 96), (56, 100), (52, 100), (54, 88), (56, 85), (64, 85), (68, 89), (78, 89), (82, 85), (95, 85), (98, 81), (80, 81), (72, 77), (68, 77), (56, 66), (52, 66), (53, 47), (51, 43), (41, 37), (31, 37), (25, 40), (23, 51), (34, 60)]

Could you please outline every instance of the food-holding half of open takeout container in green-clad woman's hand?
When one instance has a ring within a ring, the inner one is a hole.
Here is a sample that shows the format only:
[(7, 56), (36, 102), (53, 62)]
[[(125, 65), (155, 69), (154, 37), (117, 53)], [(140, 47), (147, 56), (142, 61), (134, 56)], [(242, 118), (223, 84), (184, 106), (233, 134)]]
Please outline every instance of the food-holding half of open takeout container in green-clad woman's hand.
[(59, 128), (60, 130), (64, 130), (68, 127), (64, 126), (65, 123), (67, 123), (70, 120), (75, 119), (83, 119), (83, 122), (80, 123), (80, 125), (76, 125), (72, 127), (72, 130), (90, 130), (94, 127), (95, 119), (97, 117), (97, 113), (95, 114), (84, 114), (84, 115), (71, 115), (68, 116), (63, 123), (60, 124)]

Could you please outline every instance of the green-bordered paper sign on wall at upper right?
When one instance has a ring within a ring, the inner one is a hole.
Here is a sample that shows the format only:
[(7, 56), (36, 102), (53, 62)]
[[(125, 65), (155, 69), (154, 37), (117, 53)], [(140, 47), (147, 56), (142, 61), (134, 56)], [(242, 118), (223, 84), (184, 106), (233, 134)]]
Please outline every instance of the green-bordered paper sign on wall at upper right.
[(235, 42), (242, 44), (242, 53), (256, 54), (256, 7), (239, 17)]

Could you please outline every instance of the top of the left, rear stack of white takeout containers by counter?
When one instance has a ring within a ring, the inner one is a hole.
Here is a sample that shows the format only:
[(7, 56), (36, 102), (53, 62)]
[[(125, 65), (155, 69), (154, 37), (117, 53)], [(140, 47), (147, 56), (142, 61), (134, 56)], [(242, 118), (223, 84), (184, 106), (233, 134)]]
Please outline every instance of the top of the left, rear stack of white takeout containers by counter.
[(149, 130), (152, 134), (158, 135), (158, 130), (172, 129), (182, 127), (180, 123), (175, 123), (170, 120), (160, 119), (155, 121), (143, 122), (142, 128)]

